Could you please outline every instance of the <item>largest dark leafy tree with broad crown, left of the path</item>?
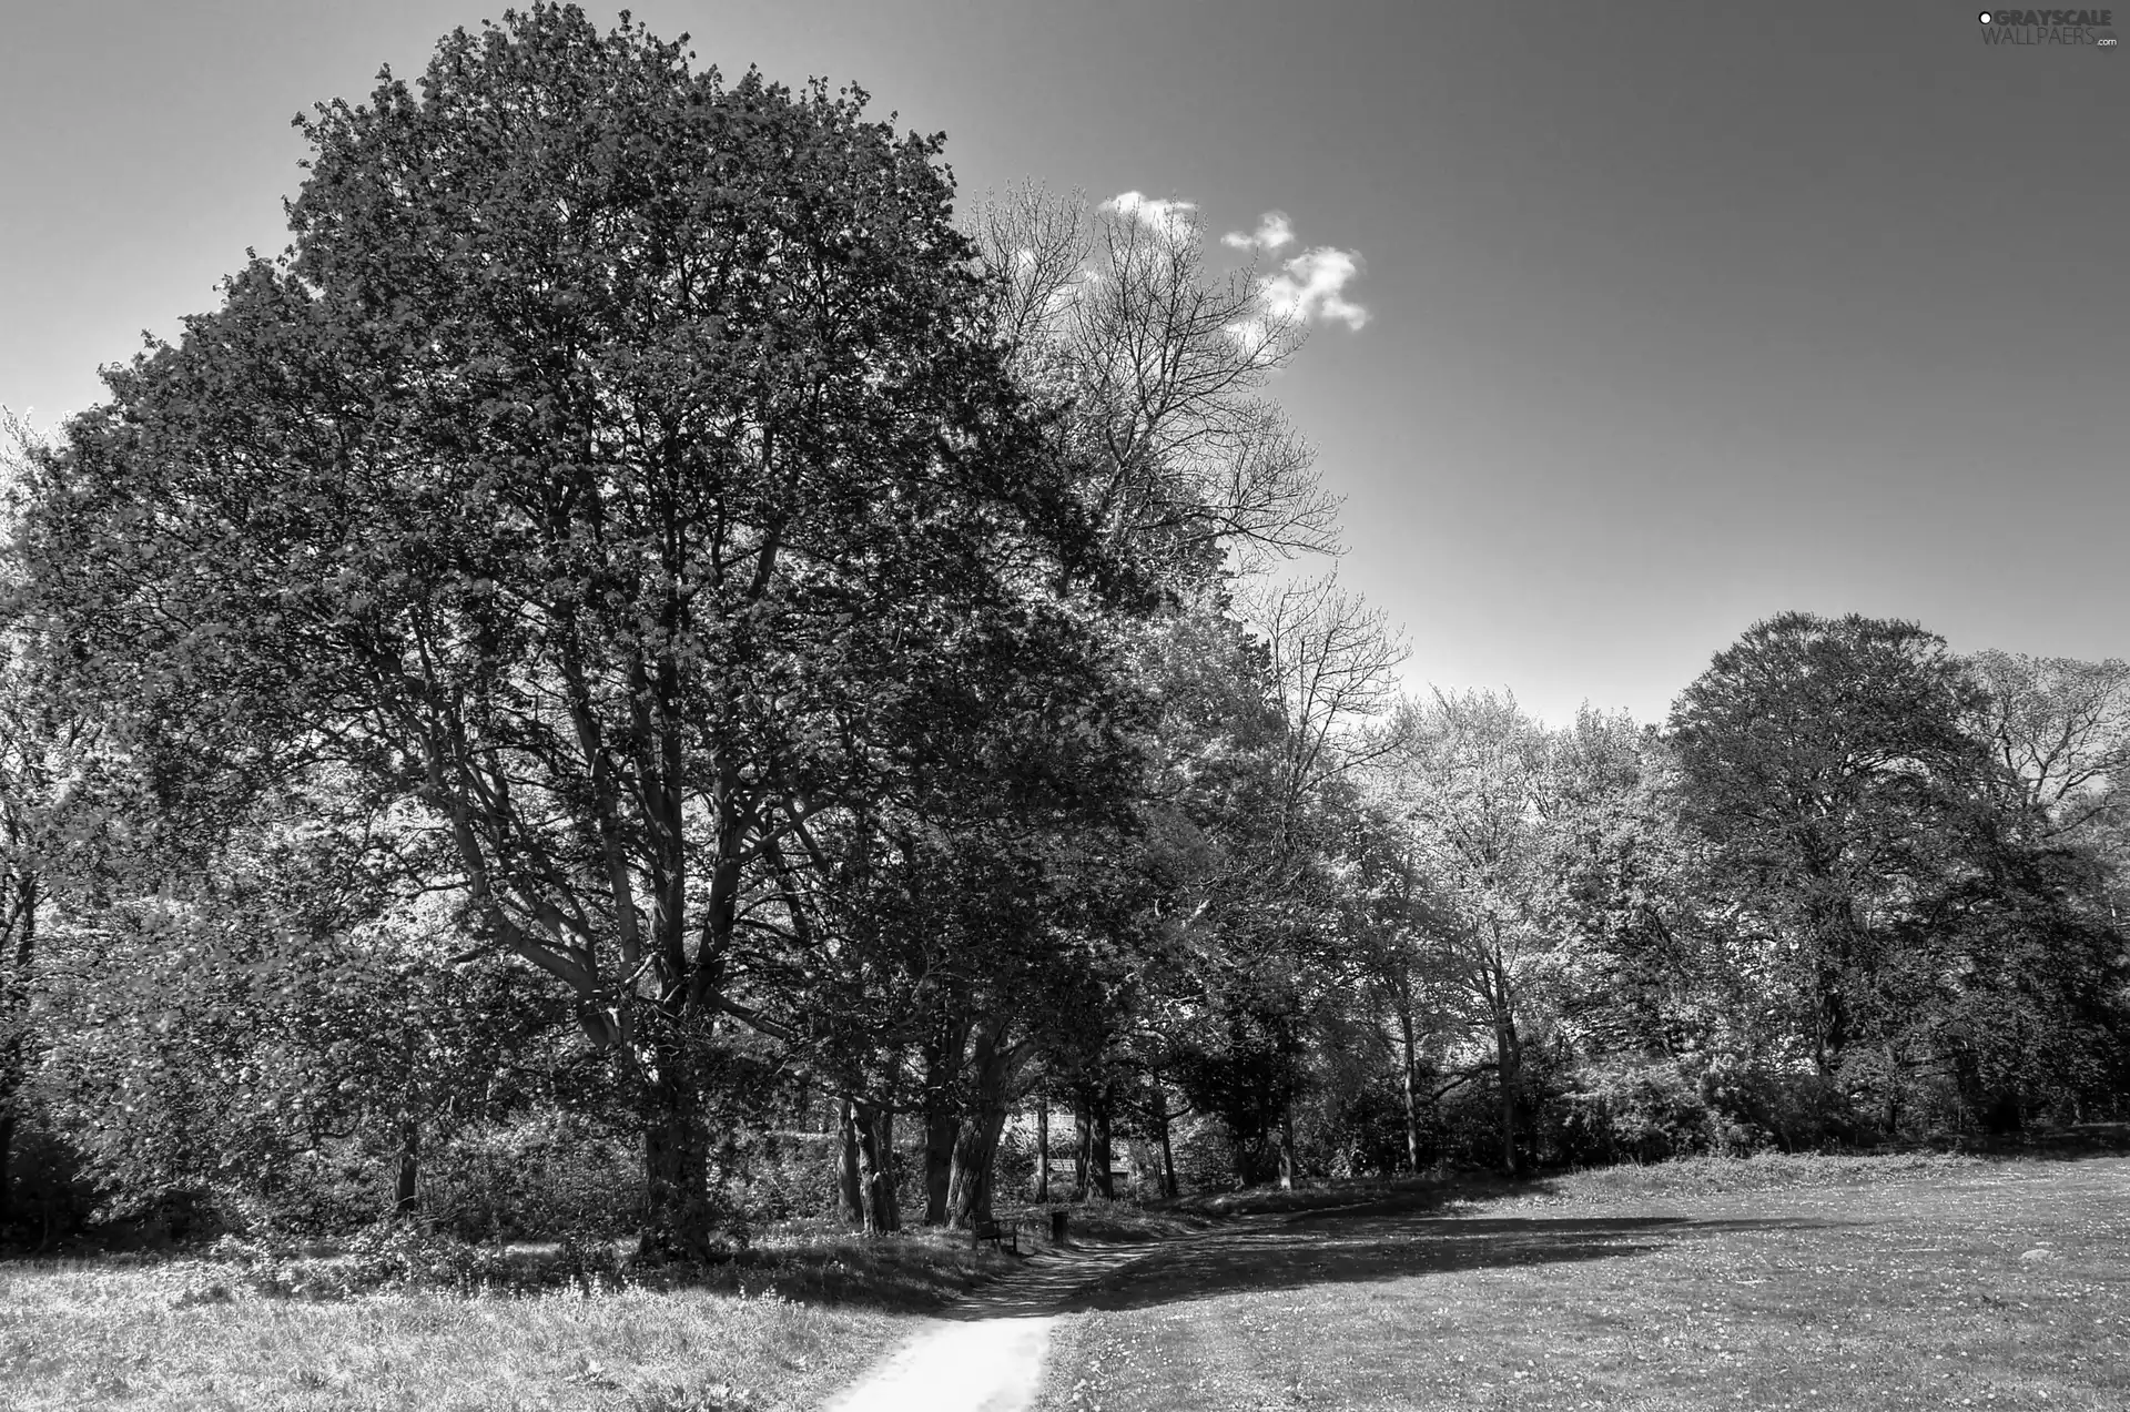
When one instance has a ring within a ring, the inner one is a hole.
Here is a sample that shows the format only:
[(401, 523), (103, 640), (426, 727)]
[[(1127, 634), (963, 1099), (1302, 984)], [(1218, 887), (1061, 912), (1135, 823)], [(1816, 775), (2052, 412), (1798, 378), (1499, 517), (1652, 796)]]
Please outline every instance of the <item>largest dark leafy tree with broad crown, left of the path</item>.
[(1071, 709), (1086, 552), (939, 138), (688, 60), (541, 4), (322, 106), (290, 251), (111, 373), (26, 549), (134, 711), (439, 833), (462, 924), (635, 1071), (648, 1235), (703, 1250), (720, 1027), (803, 1039), (756, 929), (816, 943), (799, 875)]

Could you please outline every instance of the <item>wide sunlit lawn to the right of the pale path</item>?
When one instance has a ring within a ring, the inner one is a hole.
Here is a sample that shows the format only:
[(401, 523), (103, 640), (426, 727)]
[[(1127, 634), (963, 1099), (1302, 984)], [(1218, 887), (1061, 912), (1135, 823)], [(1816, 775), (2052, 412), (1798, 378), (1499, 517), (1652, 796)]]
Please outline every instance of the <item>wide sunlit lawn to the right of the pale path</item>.
[(2130, 1406), (2126, 1159), (1310, 1195), (1078, 1299), (1044, 1412)]

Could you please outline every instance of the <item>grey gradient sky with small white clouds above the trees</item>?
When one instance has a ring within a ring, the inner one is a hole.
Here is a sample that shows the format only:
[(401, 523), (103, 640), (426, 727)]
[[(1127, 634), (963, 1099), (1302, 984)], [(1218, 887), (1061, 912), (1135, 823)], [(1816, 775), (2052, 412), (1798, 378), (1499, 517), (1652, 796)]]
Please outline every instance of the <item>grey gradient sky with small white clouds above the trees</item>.
[[(1894, 0), (633, 9), (728, 75), (856, 81), (969, 196), (1184, 200), (1216, 262), (1282, 213), (1267, 275), (1331, 275), (1269, 390), (1414, 690), (1661, 720), (1787, 609), (2130, 656), (2124, 47)], [(11, 6), (0, 403), (98, 400), (285, 243), (298, 111), (498, 13)]]

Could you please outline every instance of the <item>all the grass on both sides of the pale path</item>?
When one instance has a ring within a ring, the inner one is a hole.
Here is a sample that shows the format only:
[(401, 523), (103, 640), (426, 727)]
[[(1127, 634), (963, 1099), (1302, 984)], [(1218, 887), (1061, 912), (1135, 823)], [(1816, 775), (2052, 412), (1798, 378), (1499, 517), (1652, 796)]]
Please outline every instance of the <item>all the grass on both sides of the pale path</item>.
[[(1091, 1203), (1161, 1239), (1074, 1299), (1042, 1412), (2130, 1406), (2130, 1159), (1689, 1161)], [(249, 1293), (198, 1259), (0, 1263), (0, 1410), (799, 1412), (1007, 1269), (769, 1233), (709, 1284)]]

